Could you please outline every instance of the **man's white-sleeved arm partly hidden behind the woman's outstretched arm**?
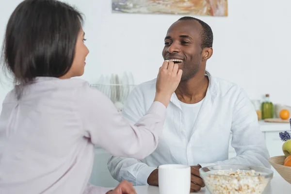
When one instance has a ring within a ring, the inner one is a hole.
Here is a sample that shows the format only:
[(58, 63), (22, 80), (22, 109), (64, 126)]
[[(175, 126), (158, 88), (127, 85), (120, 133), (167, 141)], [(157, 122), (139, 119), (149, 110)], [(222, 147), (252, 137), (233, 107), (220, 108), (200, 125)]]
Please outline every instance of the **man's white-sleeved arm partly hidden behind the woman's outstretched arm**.
[[(141, 86), (137, 86), (129, 94), (124, 104), (122, 115), (129, 122), (136, 123), (146, 113), (147, 107), (145, 100)], [(107, 166), (114, 179), (119, 182), (128, 180), (133, 185), (147, 185), (147, 178), (156, 169), (156, 167), (148, 166), (133, 158), (114, 156), (109, 159)]]

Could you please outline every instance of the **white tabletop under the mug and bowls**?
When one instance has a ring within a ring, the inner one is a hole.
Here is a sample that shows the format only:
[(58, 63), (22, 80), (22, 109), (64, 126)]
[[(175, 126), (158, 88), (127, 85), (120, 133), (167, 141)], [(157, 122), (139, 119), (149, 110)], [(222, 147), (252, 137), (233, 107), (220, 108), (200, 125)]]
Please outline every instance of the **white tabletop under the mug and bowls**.
[[(159, 187), (155, 186), (135, 186), (137, 194), (159, 194)], [(274, 177), (267, 185), (263, 194), (290, 194), (291, 184), (284, 180), (282, 177)], [(206, 187), (201, 191), (192, 194), (210, 194)]]

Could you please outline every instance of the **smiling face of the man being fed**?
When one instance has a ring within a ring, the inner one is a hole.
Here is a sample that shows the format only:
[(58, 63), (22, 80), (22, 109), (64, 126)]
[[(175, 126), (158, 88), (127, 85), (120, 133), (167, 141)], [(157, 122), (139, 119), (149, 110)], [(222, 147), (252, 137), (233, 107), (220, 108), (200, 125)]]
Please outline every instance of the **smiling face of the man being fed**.
[(195, 20), (180, 20), (172, 24), (162, 50), (164, 60), (174, 61), (183, 70), (181, 81), (194, 77), (202, 62), (202, 27)]

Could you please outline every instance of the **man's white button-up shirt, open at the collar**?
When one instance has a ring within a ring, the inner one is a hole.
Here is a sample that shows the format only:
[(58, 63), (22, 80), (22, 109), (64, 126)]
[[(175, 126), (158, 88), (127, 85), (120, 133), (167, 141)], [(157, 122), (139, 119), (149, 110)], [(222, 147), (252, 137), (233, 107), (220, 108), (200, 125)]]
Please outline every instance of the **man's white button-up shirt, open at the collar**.
[[(108, 169), (118, 181), (127, 179), (134, 185), (146, 185), (150, 173), (168, 163), (197, 165), (251, 164), (270, 167), (269, 152), (259, 129), (254, 106), (242, 88), (215, 77), (198, 113), (190, 141), (185, 134), (185, 118), (174, 93), (167, 107), (163, 136), (155, 152), (144, 160), (111, 157)], [(156, 80), (137, 86), (122, 111), (132, 123), (150, 107), (156, 92)], [(229, 137), (237, 156), (228, 160)], [(127, 140), (124, 140), (127, 141)]]

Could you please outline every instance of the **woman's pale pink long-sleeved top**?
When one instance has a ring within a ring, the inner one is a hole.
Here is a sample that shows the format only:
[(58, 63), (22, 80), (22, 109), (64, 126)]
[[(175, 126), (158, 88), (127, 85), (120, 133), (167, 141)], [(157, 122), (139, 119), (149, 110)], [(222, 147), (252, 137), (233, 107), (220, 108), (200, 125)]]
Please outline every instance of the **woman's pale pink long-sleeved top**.
[(79, 79), (37, 78), (0, 115), (0, 194), (105, 194), (87, 185), (94, 145), (143, 159), (162, 134), (166, 108), (153, 102), (130, 125), (101, 92)]

